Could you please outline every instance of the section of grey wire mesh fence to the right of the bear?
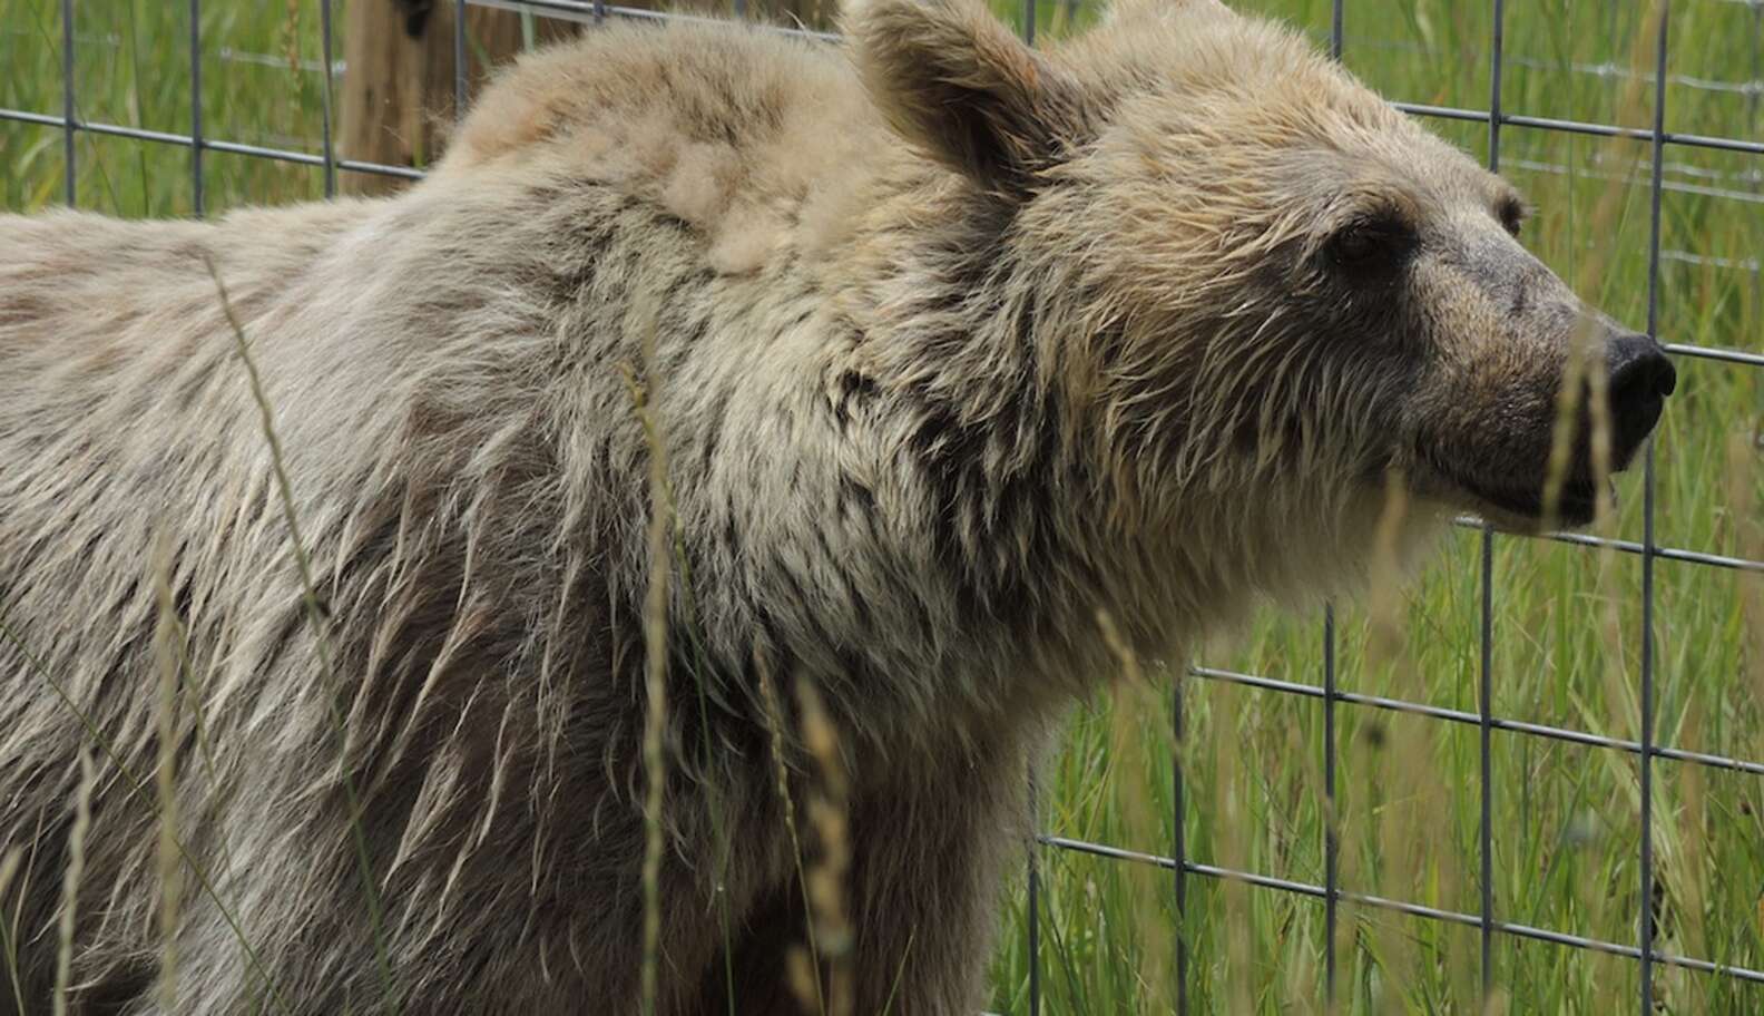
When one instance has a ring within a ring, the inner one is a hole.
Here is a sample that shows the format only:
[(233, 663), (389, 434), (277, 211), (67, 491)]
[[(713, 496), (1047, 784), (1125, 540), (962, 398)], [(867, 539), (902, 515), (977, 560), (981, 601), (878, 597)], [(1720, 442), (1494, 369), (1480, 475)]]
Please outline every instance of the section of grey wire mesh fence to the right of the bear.
[[(1738, 0), (1745, 2), (1745, 0)], [(1330, 53), (1341, 58), (1344, 49), (1344, 28), (1346, 28), (1346, 0), (1334, 0), (1332, 4), (1332, 30), (1330, 30)], [(1759, 4), (1750, 4), (1755, 11)], [(1674, 146), (1683, 148), (1704, 148), (1704, 150), (1727, 150), (1727, 152), (1745, 152), (1752, 155), (1764, 153), (1764, 141), (1745, 139), (1745, 138), (1716, 138), (1669, 131), (1665, 125), (1665, 108), (1667, 108), (1667, 85), (1672, 81), (1669, 74), (1669, 16), (1671, 0), (1662, 0), (1655, 9), (1653, 18), (1653, 69), (1646, 76), (1646, 83), (1651, 85), (1651, 127), (1621, 127), (1612, 123), (1565, 120), (1565, 118), (1547, 118), (1547, 116), (1528, 116), (1519, 113), (1510, 113), (1503, 108), (1501, 81), (1503, 71), (1506, 67), (1505, 58), (1505, 0), (1492, 0), (1492, 37), (1489, 39), (1491, 53), (1491, 90), (1487, 97), (1485, 109), (1466, 109), (1455, 106), (1436, 106), (1422, 102), (1404, 102), (1395, 101), (1394, 106), (1404, 109), (1406, 113), (1424, 116), (1424, 118), (1443, 118), (1459, 120), (1471, 123), (1484, 123), (1487, 127), (1487, 152), (1489, 168), (1494, 171), (1501, 169), (1501, 132), (1505, 127), (1531, 127), (1563, 134), (1582, 134), (1595, 138), (1626, 138), (1633, 141), (1642, 141), (1649, 146), (1649, 159), (1646, 164), (1648, 178), (1646, 185), (1649, 190), (1649, 242), (1648, 242), (1648, 335), (1660, 340), (1672, 355), (1683, 358), (1702, 358), (1716, 360), (1727, 363), (1739, 363), (1750, 369), (1764, 367), (1764, 355), (1746, 349), (1727, 349), (1727, 347), (1704, 347), (1683, 342), (1671, 342), (1660, 330), (1660, 263), (1665, 256), (1662, 245), (1662, 196), (1667, 192), (1663, 182), (1663, 169), (1667, 164), (1667, 152)], [(1600, 65), (1600, 67), (1581, 67), (1582, 72), (1595, 72), (1603, 76), (1632, 76), (1632, 72)], [(1683, 81), (1683, 78), (1681, 78)], [(1732, 85), (1732, 83), (1708, 83), (1699, 81), (1695, 85), (1711, 86), (1718, 90), (1738, 90), (1741, 93), (1753, 93), (1760, 81), (1750, 85)], [(1753, 169), (1755, 171), (1755, 169)], [(1750, 194), (1739, 194), (1741, 198), (1750, 198)], [(1690, 252), (1679, 252), (1681, 258), (1695, 258)], [(1741, 268), (1750, 268), (1753, 273), (1757, 266), (1752, 263), (1741, 265)], [(1611, 956), (1623, 956), (1633, 960), (1639, 968), (1639, 998), (1637, 1005), (1641, 1012), (1648, 1014), (1656, 1009), (1655, 995), (1655, 968), (1658, 965), (1681, 967), (1686, 970), (1697, 970), (1702, 974), (1730, 977), (1748, 982), (1764, 982), (1764, 970), (1755, 970), (1739, 965), (1718, 963), (1706, 958), (1683, 956), (1676, 952), (1660, 951), (1655, 944), (1655, 924), (1656, 915), (1653, 912), (1651, 901), (1655, 900), (1655, 845), (1653, 845), (1653, 806), (1655, 806), (1655, 760), (1669, 758), (1679, 762), (1692, 762), (1697, 766), (1708, 766), (1727, 771), (1741, 771), (1752, 774), (1764, 774), (1764, 764), (1757, 760), (1736, 758), (1729, 755), (1715, 755), (1704, 751), (1692, 751), (1676, 746), (1658, 744), (1655, 739), (1655, 702), (1656, 702), (1656, 661), (1655, 661), (1655, 563), (1656, 561), (1683, 561), (1695, 566), (1706, 568), (1730, 568), (1741, 572), (1764, 572), (1764, 561), (1734, 557), (1722, 554), (1708, 554), (1693, 549), (1663, 547), (1655, 534), (1655, 452), (1649, 446), (1646, 452), (1642, 466), (1642, 540), (1611, 540), (1577, 533), (1551, 533), (1547, 540), (1558, 540), (1565, 543), (1595, 547), (1595, 549), (1612, 549), (1623, 554), (1633, 554), (1641, 557), (1642, 566), (1642, 586), (1641, 586), (1641, 720), (1639, 720), (1639, 739), (1621, 739), (1609, 737), (1588, 730), (1573, 730), (1565, 727), (1552, 727), (1542, 723), (1515, 721), (1496, 716), (1491, 704), (1491, 688), (1496, 674), (1492, 672), (1492, 649), (1494, 649), (1494, 542), (1498, 534), (1484, 526), (1476, 519), (1462, 517), (1457, 520), (1459, 526), (1480, 529), (1480, 621), (1476, 630), (1478, 649), (1480, 649), (1480, 667), (1478, 667), (1478, 686), (1476, 686), (1476, 711), (1445, 709), (1438, 706), (1429, 706), (1424, 702), (1411, 702), (1402, 698), (1388, 698), (1378, 695), (1364, 695), (1355, 691), (1344, 691), (1339, 683), (1337, 665), (1335, 665), (1335, 617), (1334, 610), (1325, 612), (1321, 642), (1323, 642), (1323, 672), (1319, 684), (1281, 681), (1254, 674), (1242, 674), (1233, 670), (1212, 669), (1212, 667), (1192, 667), (1187, 674), (1194, 679), (1205, 683), (1224, 683), (1247, 688), (1258, 688), (1263, 691), (1274, 691), (1282, 695), (1298, 695), (1305, 698), (1314, 698), (1323, 706), (1323, 744), (1321, 744), (1321, 767), (1323, 767), (1323, 787), (1328, 797), (1325, 813), (1334, 813), (1334, 797), (1337, 788), (1337, 760), (1341, 744), (1337, 739), (1337, 709), (1339, 707), (1360, 707), (1360, 709), (1381, 709), (1408, 713), (1415, 716), (1425, 716), (1431, 720), (1439, 720), (1446, 723), (1475, 725), (1478, 728), (1478, 762), (1480, 762), (1480, 850), (1478, 850), (1478, 889), (1480, 889), (1480, 907), (1476, 912), (1446, 910), (1439, 907), (1429, 907), (1422, 903), (1413, 903), (1406, 900), (1392, 900), (1385, 896), (1374, 896), (1367, 893), (1358, 893), (1346, 889), (1341, 884), (1341, 864), (1339, 864), (1339, 831), (1334, 826), (1325, 833), (1325, 878), (1323, 884), (1298, 882), (1291, 878), (1224, 868), (1217, 864), (1205, 864), (1192, 859), (1184, 843), (1184, 771), (1180, 764), (1180, 753), (1173, 757), (1171, 780), (1175, 785), (1175, 806), (1177, 815), (1173, 817), (1173, 850), (1170, 855), (1145, 854), (1138, 850), (1127, 850), (1122, 847), (1113, 847), (1106, 843), (1090, 843), (1083, 840), (1073, 840), (1065, 836), (1041, 833), (1037, 834), (1037, 843), (1046, 848), (1071, 850), (1081, 854), (1092, 854), (1097, 857), (1108, 857), (1122, 863), (1132, 864), (1150, 864), (1168, 870), (1175, 880), (1175, 900), (1178, 915), (1184, 912), (1187, 901), (1187, 878), (1214, 878), (1214, 880), (1235, 880), (1258, 889), (1268, 889), (1275, 893), (1291, 893), (1300, 896), (1318, 898), (1325, 903), (1325, 935), (1323, 935), (1323, 970), (1325, 970), (1325, 998), (1334, 1004), (1337, 997), (1337, 924), (1341, 921), (1337, 903), (1348, 901), (1358, 907), (1369, 907), (1378, 910), (1388, 910), (1395, 914), (1406, 914), (1411, 917), (1420, 917), (1427, 921), (1450, 923), (1459, 926), (1469, 926), (1478, 930), (1480, 937), (1480, 981), (1484, 995), (1492, 988), (1494, 963), (1492, 949), (1494, 940), (1499, 935), (1529, 938), (1538, 942), (1551, 942), (1556, 945), (1566, 945), (1572, 949), (1584, 949), (1603, 952)], [(1187, 681), (1178, 681), (1173, 691), (1171, 713), (1177, 718), (1177, 739), (1180, 743), (1182, 714), (1184, 714), (1184, 686)], [(1496, 730), (1514, 732), (1526, 737), (1538, 737), (1549, 741), (1565, 741), (1596, 746), (1603, 750), (1625, 751), (1635, 755), (1641, 771), (1641, 836), (1635, 845), (1639, 857), (1639, 880), (1641, 891), (1637, 900), (1641, 901), (1635, 914), (1637, 938), (1633, 944), (1628, 942), (1611, 942), (1584, 935), (1575, 935), (1563, 930), (1540, 928), (1524, 923), (1515, 923), (1503, 919), (1496, 912), (1494, 905), (1494, 826), (1491, 820), (1492, 806), (1492, 734)], [(1039, 942), (1034, 930), (1039, 923), (1039, 864), (1032, 857), (1028, 866), (1028, 910), (1030, 910), (1030, 1012), (1041, 1011), (1041, 963), (1035, 956), (1039, 952)], [(1177, 1000), (1175, 1007), (1178, 1012), (1187, 1012), (1189, 1005), (1189, 986), (1187, 986), (1187, 944), (1178, 935), (1177, 937)]]

